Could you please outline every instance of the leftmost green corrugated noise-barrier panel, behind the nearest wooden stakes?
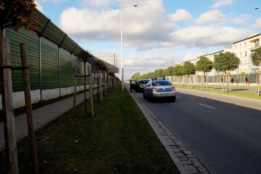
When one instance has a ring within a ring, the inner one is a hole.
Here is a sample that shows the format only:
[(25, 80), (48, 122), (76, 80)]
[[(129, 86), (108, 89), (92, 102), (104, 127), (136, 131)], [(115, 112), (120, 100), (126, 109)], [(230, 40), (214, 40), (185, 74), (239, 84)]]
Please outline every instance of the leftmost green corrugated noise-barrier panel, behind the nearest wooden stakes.
[[(6, 37), (10, 40), (10, 58), (12, 67), (21, 67), (20, 43), (26, 43), (30, 89), (40, 89), (40, 62), (39, 62), (39, 38), (37, 33), (25, 31), (18, 32), (6, 29)], [(13, 92), (24, 91), (22, 70), (12, 71)]]

